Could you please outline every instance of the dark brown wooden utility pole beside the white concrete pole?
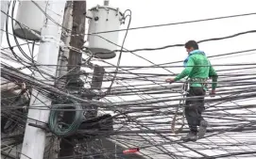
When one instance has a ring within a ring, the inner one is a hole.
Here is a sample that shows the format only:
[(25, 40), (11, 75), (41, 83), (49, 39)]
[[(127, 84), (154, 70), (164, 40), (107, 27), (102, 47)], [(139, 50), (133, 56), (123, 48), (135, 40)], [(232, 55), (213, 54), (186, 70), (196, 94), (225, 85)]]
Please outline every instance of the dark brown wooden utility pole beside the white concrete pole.
[[(70, 46), (81, 49), (84, 44), (84, 33), (85, 33), (85, 19), (86, 19), (86, 1), (74, 1), (73, 2), (73, 27), (72, 36), (70, 40)], [(68, 71), (67, 83), (69, 87), (79, 87), (79, 71), (81, 64), (82, 55), (76, 51), (70, 50), (68, 57)], [(67, 115), (68, 112), (64, 113), (64, 120), (72, 120), (72, 116)], [(71, 144), (73, 143), (73, 144)], [(60, 153), (59, 157), (72, 156), (74, 154), (74, 138), (65, 137), (60, 141)]]

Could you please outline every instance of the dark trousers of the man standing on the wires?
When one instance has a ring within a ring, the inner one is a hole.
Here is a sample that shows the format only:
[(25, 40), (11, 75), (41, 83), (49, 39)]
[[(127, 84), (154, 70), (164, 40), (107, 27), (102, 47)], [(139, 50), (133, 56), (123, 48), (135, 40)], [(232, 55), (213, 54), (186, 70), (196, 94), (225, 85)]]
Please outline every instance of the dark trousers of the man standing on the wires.
[(200, 121), (203, 120), (202, 112), (204, 107), (205, 90), (203, 87), (190, 87), (187, 97), (192, 99), (186, 100), (185, 117), (187, 119), (191, 132), (197, 132), (197, 126), (200, 125)]

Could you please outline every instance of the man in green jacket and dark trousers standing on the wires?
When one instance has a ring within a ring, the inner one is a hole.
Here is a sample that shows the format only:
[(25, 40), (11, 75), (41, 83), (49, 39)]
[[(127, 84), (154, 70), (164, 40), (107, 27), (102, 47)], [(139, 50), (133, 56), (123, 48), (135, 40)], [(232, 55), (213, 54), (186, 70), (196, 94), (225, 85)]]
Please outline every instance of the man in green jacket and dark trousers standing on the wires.
[[(173, 83), (188, 76), (189, 77), (189, 90), (186, 99), (185, 117), (187, 119), (190, 132), (180, 139), (187, 141), (196, 141), (206, 133), (208, 122), (202, 118), (204, 107), (204, 96), (207, 89), (206, 82), (210, 77), (213, 80), (211, 96), (215, 94), (215, 87), (217, 86), (217, 73), (214, 71), (213, 66), (205, 56), (204, 52), (199, 51), (198, 44), (195, 40), (189, 40), (185, 43), (188, 57), (184, 60), (185, 69), (179, 73), (175, 78), (167, 78), (165, 81)], [(197, 131), (197, 126), (199, 130)]]

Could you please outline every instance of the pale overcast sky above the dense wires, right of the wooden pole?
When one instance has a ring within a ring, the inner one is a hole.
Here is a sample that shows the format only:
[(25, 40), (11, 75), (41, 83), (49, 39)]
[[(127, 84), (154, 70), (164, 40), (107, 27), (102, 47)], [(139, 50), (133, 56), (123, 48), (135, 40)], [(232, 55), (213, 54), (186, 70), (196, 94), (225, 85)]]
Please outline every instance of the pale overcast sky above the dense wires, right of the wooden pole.
[[(221, 16), (229, 16), (255, 11), (254, 0), (110, 0), (110, 6), (121, 10), (132, 11), (130, 27), (152, 24), (168, 24), (199, 19), (207, 19)], [(103, 0), (88, 0), (87, 8), (102, 5)], [(230, 36), (238, 32), (253, 30), (256, 26), (256, 15), (201, 22), (195, 24), (178, 24), (171, 26), (153, 27), (146, 29), (130, 30), (125, 43), (128, 50), (138, 48), (154, 48), (170, 44), (184, 43), (187, 40), (206, 40)], [(127, 21), (128, 22), (128, 21)], [(128, 23), (126, 23), (128, 24)], [(126, 28), (127, 25), (122, 25)], [(88, 27), (88, 26), (87, 26)], [(120, 32), (119, 44), (122, 43), (125, 32)], [(256, 34), (242, 35), (229, 40), (215, 40), (199, 44), (200, 50), (207, 56), (220, 55), (230, 52), (254, 49)], [(154, 63), (166, 63), (183, 60), (187, 53), (183, 47), (169, 48), (159, 51), (142, 51), (136, 53), (144, 56)], [(118, 56), (118, 55), (117, 55)], [(109, 62), (116, 64), (117, 57)], [(256, 61), (256, 54), (244, 54), (229, 58), (215, 58), (214, 64), (249, 63)], [(121, 65), (150, 65), (145, 60), (124, 53)], [(181, 63), (179, 63), (181, 65)], [(220, 67), (216, 68), (218, 70)], [(223, 68), (223, 67), (222, 67)], [(172, 72), (180, 72), (182, 68), (170, 69)], [(155, 70), (156, 71), (156, 70)], [(152, 70), (154, 72), (154, 70)], [(158, 70), (157, 72), (164, 72)], [(163, 80), (163, 79), (162, 79)]]

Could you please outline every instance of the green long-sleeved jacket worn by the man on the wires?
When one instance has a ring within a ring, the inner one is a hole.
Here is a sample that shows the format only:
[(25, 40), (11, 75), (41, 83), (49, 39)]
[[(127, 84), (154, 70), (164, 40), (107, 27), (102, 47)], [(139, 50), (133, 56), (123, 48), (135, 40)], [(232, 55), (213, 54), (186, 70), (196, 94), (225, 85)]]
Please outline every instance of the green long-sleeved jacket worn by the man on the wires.
[(199, 50), (195, 50), (189, 54), (184, 62), (185, 69), (175, 78), (175, 81), (188, 76), (193, 82), (190, 87), (202, 87), (201, 79), (213, 79), (212, 88), (217, 86), (217, 73), (208, 60), (207, 56)]

